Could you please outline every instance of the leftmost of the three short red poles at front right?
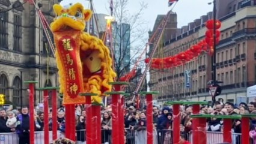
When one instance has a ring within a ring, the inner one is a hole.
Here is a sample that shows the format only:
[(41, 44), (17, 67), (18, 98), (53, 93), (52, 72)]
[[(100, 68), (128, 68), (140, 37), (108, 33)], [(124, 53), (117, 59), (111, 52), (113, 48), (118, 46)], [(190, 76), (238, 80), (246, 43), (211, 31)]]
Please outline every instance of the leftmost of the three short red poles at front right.
[(198, 128), (197, 128), (198, 144), (207, 143), (207, 134), (206, 134), (206, 118), (198, 118)]

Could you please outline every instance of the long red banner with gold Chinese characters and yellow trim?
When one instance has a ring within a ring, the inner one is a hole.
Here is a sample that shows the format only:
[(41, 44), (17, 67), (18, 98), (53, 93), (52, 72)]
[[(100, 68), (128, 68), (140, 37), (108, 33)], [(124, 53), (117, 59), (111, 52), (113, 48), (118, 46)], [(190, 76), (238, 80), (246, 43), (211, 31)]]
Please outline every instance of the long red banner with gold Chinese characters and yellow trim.
[(79, 96), (84, 91), (82, 64), (80, 59), (81, 31), (54, 32), (57, 62), (61, 65), (63, 79), (63, 104), (85, 103), (85, 97)]

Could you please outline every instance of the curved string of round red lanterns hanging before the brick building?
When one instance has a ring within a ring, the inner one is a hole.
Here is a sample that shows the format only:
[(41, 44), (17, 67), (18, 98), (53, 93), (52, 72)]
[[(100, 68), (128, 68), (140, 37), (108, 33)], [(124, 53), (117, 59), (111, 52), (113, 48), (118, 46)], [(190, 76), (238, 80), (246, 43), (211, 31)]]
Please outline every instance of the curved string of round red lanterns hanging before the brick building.
[[(202, 52), (207, 52), (210, 56), (213, 54), (213, 27), (214, 20), (210, 19), (206, 22), (207, 31), (205, 33), (204, 40), (199, 41), (194, 46), (191, 46), (189, 49), (184, 52), (180, 52), (174, 56), (168, 56), (166, 58), (153, 58), (151, 68), (153, 69), (167, 69), (183, 65), (186, 62), (191, 61), (194, 58), (197, 58), (201, 55)], [(216, 20), (215, 22), (215, 35), (216, 35), (216, 44), (219, 43), (219, 37), (221, 36), (221, 21)], [(145, 59), (145, 63), (148, 63), (149, 59)]]

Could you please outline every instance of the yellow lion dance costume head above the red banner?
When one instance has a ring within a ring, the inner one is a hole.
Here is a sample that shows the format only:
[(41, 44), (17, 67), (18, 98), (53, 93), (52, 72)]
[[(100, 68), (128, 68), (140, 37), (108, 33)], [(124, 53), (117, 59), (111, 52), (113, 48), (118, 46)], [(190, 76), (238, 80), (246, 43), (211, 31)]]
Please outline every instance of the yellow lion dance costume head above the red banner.
[(76, 3), (70, 7), (62, 7), (59, 4), (53, 5), (53, 11), (56, 14), (55, 19), (50, 24), (52, 32), (75, 29), (83, 31), (85, 22), (91, 18), (91, 10), (85, 10), (82, 4)]

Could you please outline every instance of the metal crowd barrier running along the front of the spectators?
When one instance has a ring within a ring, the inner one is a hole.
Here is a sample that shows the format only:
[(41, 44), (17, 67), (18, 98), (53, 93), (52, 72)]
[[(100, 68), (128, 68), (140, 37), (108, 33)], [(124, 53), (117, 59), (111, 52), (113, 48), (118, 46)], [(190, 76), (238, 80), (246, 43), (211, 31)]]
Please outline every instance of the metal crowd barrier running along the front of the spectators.
[[(147, 143), (147, 131), (134, 131), (126, 129), (126, 144), (146, 144)], [(111, 144), (111, 130), (102, 130), (102, 143)], [(78, 144), (85, 144), (85, 130), (76, 131), (76, 139)], [(58, 131), (58, 137), (64, 137), (64, 134)], [(181, 133), (185, 138), (192, 143), (192, 133)], [(52, 131), (49, 131), (49, 143), (52, 143)], [(172, 144), (172, 130), (154, 130), (153, 131), (154, 144)], [(232, 144), (242, 144), (241, 134), (232, 133)], [(222, 132), (207, 131), (207, 144), (222, 143)], [(16, 133), (0, 133), (0, 144), (17, 144), (19, 143), (19, 137)], [(44, 143), (43, 131), (35, 132), (35, 143)]]

